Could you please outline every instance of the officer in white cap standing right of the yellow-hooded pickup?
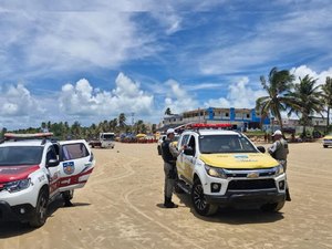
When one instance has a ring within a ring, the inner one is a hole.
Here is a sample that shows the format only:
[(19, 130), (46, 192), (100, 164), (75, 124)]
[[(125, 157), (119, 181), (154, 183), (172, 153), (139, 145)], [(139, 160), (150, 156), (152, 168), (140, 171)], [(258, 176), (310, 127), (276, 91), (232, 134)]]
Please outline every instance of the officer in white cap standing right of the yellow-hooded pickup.
[[(268, 152), (269, 154), (279, 162), (279, 164), (283, 167), (283, 172), (286, 173), (287, 169), (287, 156), (289, 154), (288, 143), (286, 139), (283, 139), (282, 132), (280, 129), (277, 129), (272, 134), (272, 138), (274, 143), (271, 147), (269, 147)], [(286, 200), (290, 201), (290, 194), (288, 184), (286, 183)]]

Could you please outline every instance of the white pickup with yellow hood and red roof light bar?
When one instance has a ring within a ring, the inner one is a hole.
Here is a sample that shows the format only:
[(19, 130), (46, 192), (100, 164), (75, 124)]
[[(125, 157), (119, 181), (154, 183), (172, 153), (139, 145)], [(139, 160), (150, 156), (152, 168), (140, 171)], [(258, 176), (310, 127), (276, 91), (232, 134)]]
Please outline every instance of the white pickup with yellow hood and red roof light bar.
[(219, 206), (257, 206), (280, 210), (286, 201), (286, 174), (248, 137), (224, 131), (228, 124), (191, 124), (178, 141), (178, 186), (191, 195), (195, 210), (212, 215)]

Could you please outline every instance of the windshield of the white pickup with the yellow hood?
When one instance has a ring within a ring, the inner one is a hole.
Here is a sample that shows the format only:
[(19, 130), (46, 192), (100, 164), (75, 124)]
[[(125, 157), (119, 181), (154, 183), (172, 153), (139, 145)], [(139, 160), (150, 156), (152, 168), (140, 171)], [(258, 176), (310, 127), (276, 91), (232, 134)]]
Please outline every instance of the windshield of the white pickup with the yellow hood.
[(203, 154), (258, 152), (248, 138), (241, 135), (199, 136), (199, 147)]

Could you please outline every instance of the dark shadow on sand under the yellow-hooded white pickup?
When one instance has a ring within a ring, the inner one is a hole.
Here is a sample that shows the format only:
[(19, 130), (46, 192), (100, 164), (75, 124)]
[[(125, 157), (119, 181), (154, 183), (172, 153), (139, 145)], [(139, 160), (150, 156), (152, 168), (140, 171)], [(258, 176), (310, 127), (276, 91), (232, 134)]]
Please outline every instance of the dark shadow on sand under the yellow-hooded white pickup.
[(179, 200), (179, 208), (186, 207), (190, 212), (201, 220), (208, 222), (225, 222), (229, 225), (243, 225), (243, 224), (268, 224), (276, 222), (283, 219), (283, 212), (268, 212), (262, 211), (257, 207), (242, 207), (241, 209), (235, 208), (219, 208), (217, 214), (208, 217), (200, 216), (196, 212), (190, 196), (187, 194), (175, 194)]

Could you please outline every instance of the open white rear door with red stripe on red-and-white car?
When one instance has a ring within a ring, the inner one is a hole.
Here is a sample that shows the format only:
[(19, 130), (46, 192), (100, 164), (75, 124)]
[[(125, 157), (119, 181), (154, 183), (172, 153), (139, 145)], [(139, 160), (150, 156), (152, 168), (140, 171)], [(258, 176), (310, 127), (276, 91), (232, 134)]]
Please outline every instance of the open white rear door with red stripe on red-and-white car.
[(82, 188), (93, 172), (95, 160), (84, 139), (60, 144), (60, 191)]

